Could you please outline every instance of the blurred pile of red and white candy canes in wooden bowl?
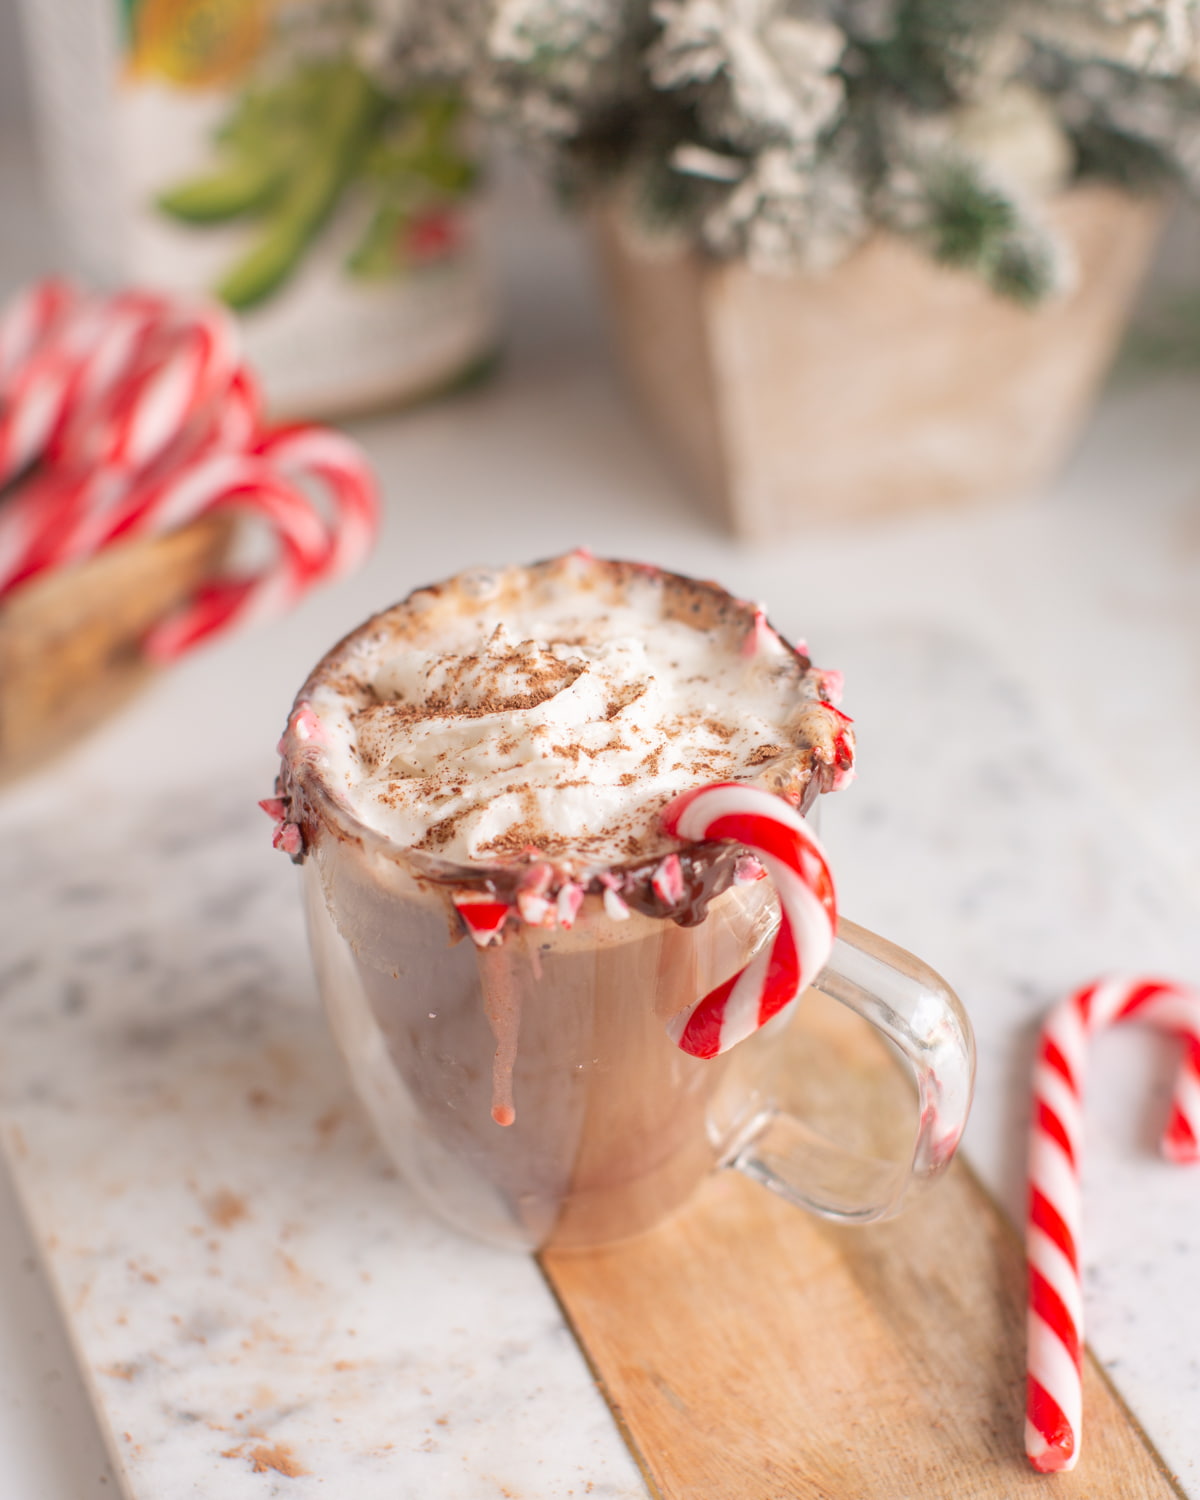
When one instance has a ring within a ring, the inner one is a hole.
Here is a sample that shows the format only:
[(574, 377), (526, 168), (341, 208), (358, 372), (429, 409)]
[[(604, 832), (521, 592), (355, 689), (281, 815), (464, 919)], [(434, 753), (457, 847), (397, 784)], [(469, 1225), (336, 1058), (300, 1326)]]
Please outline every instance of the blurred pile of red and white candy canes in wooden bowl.
[(378, 526), (375, 482), (352, 442), (262, 426), (220, 308), (86, 296), (57, 280), (0, 312), (0, 600), (200, 516), (232, 510), (266, 524), (270, 558), (212, 579), (164, 620), (142, 644), (158, 662), (351, 570)]

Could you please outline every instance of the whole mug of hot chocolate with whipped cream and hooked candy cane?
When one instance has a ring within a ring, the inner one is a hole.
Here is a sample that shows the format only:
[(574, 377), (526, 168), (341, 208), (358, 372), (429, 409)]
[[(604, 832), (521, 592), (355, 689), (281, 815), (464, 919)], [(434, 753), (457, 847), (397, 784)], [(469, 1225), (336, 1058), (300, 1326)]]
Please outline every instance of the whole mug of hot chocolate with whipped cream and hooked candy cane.
[[(312, 672), (264, 806), (356, 1088), (442, 1218), (596, 1245), (729, 1166), (866, 1222), (946, 1166), (968, 1018), (837, 922), (806, 819), (852, 776), (838, 688), (717, 585), (586, 552), (418, 590)], [(808, 984), (906, 1068), (903, 1160), (782, 1107)]]

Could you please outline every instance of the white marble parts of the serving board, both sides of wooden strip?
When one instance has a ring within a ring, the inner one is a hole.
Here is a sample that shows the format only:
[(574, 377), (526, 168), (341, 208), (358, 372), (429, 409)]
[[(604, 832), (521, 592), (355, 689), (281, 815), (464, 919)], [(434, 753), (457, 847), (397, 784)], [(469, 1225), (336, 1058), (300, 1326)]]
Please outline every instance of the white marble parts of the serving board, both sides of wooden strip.
[[(1197, 912), (980, 648), (828, 646), (862, 744), (825, 816), (843, 908), (962, 990), (968, 1152), (1017, 1216), (1036, 1016), (1110, 966), (1200, 980)], [(441, 1230), (384, 1167), (252, 780), (0, 849), (0, 1134), (120, 1480), (134, 1500), (644, 1496), (532, 1263)], [(1089, 1334), (1200, 1497), (1200, 1176), (1154, 1155), (1167, 1047), (1095, 1052)]]

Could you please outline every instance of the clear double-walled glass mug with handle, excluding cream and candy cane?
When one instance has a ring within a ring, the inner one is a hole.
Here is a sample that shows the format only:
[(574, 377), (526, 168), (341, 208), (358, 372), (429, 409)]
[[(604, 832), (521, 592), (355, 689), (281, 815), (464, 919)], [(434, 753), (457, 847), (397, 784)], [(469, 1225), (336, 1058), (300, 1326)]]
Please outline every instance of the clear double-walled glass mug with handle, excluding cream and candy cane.
[[(441, 1218), (494, 1244), (582, 1248), (650, 1228), (732, 1167), (828, 1218), (868, 1222), (948, 1164), (974, 1042), (926, 964), (843, 920), (814, 980), (910, 1083), (903, 1150), (860, 1152), (788, 1108), (778, 1060), (794, 1065), (794, 1016), (812, 996), (716, 1058), (690, 1056), (668, 1030), (772, 942), (770, 879), (716, 882), (675, 918), (614, 914), (592, 884), (570, 926), (513, 918), (480, 946), (454, 896), (465, 882), (512, 888), (512, 864), (465, 867), (369, 826), (321, 771), (304, 692), (282, 744), (278, 842), (303, 862), (320, 988), (357, 1092)], [(813, 778), (801, 807), (816, 790)], [(711, 866), (711, 846), (680, 852)]]

